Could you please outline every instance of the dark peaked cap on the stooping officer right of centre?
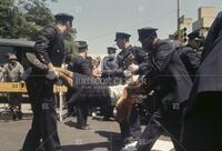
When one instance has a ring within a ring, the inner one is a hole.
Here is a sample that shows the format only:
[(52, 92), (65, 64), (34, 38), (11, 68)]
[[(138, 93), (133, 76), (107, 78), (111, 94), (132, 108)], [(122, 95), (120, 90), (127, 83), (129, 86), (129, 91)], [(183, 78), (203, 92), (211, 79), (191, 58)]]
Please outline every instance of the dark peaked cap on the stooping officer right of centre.
[(138, 29), (138, 36), (139, 36), (139, 40), (140, 41), (143, 41), (148, 38), (151, 38), (153, 36), (157, 36), (157, 31), (158, 29), (154, 29), (154, 28), (141, 28), (141, 29)]

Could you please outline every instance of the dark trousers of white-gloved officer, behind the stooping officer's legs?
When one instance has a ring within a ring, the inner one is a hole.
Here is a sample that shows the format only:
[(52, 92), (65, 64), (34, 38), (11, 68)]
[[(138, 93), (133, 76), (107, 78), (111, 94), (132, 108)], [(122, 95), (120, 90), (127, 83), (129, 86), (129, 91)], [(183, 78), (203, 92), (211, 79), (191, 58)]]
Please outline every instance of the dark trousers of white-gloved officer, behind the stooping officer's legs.
[(120, 123), (121, 138), (139, 138), (141, 134), (140, 114), (135, 105), (132, 107), (129, 123)]

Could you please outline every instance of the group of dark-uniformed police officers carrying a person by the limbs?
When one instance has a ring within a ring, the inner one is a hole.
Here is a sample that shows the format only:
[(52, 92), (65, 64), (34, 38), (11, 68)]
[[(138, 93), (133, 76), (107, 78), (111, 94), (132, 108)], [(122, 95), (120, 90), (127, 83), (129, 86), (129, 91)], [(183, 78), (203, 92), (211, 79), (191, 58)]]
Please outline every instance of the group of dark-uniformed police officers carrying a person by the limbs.
[[(37, 36), (33, 51), (40, 63), (31, 62), (32, 72), (26, 79), (33, 121), (22, 151), (62, 150), (53, 98), (53, 84), (59, 78), (69, 88), (69, 113), (77, 109), (79, 129), (89, 129), (89, 107), (104, 108), (107, 119), (113, 105), (125, 114), (117, 118), (122, 151), (151, 150), (163, 133), (171, 138), (176, 151), (220, 148), (222, 12), (205, 40), (192, 32), (186, 46), (159, 39), (155, 28), (138, 29), (142, 48), (131, 46), (129, 33), (117, 32), (114, 41), (121, 52), (115, 56), (117, 49), (109, 47), (102, 66), (101, 59), (89, 57), (85, 41), (77, 41), (79, 54), (67, 58), (62, 66), (62, 34), (71, 29), (73, 17), (67, 13), (54, 17), (56, 24)], [(148, 97), (139, 101), (141, 95), (150, 94), (151, 100)], [(141, 102), (147, 102), (150, 111), (143, 131), (138, 110)], [(127, 144), (133, 141), (137, 145), (128, 149)]]

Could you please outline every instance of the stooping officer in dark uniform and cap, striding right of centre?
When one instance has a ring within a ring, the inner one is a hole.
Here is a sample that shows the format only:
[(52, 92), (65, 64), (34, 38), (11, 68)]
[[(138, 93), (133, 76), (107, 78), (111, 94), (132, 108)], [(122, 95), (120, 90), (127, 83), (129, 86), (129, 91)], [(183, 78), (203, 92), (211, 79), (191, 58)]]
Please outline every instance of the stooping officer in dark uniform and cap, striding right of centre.
[(137, 150), (151, 150), (163, 132), (171, 137), (176, 151), (183, 150), (179, 143), (182, 109), (189, 99), (192, 81), (173, 43), (160, 40), (155, 31), (154, 28), (138, 30), (142, 48), (149, 51), (145, 73), (147, 83), (150, 83), (148, 88), (154, 90), (159, 107), (140, 137)]

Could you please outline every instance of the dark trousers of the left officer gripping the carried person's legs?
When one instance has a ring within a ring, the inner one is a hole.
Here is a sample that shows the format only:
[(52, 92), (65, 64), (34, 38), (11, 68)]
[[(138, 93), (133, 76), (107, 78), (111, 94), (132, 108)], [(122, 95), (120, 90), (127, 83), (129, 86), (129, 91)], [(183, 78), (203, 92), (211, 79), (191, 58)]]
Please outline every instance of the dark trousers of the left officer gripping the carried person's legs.
[(61, 151), (57, 130), (53, 83), (43, 78), (29, 78), (27, 88), (33, 120), (22, 151)]

